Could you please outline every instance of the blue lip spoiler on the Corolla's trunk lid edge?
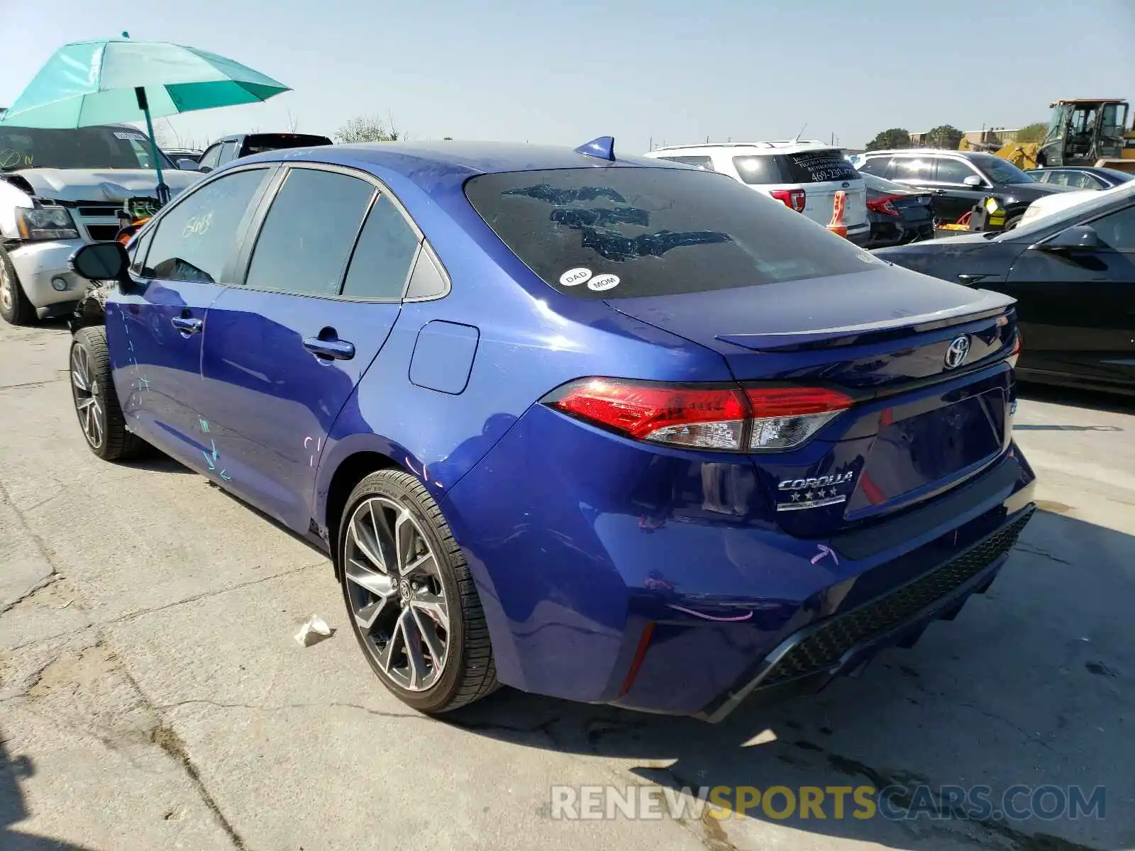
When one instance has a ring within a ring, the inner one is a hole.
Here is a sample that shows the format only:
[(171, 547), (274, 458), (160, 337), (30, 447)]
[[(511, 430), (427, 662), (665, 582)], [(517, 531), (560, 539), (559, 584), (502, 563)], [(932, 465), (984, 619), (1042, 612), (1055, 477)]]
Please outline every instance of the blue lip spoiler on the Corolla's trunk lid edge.
[(981, 297), (949, 310), (923, 313), (913, 317), (883, 319), (877, 322), (824, 328), (812, 331), (783, 331), (776, 334), (720, 334), (715, 339), (733, 346), (748, 348), (750, 352), (798, 352), (813, 348), (834, 348), (863, 343), (883, 343), (888, 339), (905, 337), (911, 332), (922, 334), (939, 328), (956, 325), (978, 322), (983, 319), (1001, 317), (1012, 310), (1017, 303), (1000, 293), (987, 289), (975, 289)]

